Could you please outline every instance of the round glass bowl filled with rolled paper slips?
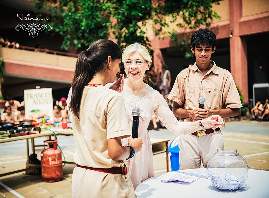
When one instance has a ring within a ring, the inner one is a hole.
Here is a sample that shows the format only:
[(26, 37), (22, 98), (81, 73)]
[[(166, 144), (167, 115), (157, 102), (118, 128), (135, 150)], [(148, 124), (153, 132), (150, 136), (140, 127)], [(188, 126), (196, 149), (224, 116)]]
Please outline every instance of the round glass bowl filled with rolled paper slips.
[(236, 148), (219, 148), (207, 163), (207, 177), (223, 191), (234, 191), (244, 185), (248, 176), (246, 160)]

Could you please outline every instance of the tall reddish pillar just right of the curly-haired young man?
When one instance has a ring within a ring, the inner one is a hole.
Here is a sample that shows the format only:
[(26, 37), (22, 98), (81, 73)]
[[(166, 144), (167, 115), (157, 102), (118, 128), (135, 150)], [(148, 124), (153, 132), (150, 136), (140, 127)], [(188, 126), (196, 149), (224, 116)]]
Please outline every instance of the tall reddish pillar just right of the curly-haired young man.
[(247, 40), (239, 36), (239, 20), (242, 18), (242, 0), (229, 0), (230, 11), (230, 64), (234, 82), (248, 102)]

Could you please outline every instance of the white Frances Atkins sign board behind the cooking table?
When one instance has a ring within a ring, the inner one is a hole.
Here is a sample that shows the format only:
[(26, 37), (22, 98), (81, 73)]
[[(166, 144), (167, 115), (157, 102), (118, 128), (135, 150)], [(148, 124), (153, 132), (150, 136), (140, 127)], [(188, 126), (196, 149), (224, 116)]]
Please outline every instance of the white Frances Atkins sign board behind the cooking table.
[(53, 121), (52, 89), (24, 90), (24, 108), (26, 119), (37, 120), (44, 117), (45, 120)]

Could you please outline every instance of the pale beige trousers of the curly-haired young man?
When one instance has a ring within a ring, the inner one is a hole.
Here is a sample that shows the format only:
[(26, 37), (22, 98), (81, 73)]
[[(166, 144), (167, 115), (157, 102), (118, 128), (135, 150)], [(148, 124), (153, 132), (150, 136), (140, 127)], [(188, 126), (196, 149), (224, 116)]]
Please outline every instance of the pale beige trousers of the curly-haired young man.
[(180, 170), (204, 168), (209, 159), (217, 153), (218, 148), (224, 147), (221, 131), (203, 136), (180, 135), (178, 141)]

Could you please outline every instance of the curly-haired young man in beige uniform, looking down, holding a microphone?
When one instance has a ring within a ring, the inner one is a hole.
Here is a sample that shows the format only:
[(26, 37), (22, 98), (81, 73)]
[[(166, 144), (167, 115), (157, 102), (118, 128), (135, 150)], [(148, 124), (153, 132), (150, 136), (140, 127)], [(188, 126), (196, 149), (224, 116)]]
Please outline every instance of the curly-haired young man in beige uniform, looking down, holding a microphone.
[[(220, 115), (225, 122), (225, 118), (237, 116), (242, 104), (232, 75), (210, 60), (216, 50), (215, 34), (208, 29), (194, 32), (191, 50), (196, 62), (178, 74), (168, 96), (174, 101), (175, 116), (184, 122), (205, 119), (211, 115)], [(205, 98), (203, 109), (198, 108), (201, 96)], [(218, 148), (224, 147), (224, 142), (217, 128), (182, 135), (178, 145), (180, 170), (184, 170), (200, 168), (201, 162), (206, 168), (211, 156)]]

